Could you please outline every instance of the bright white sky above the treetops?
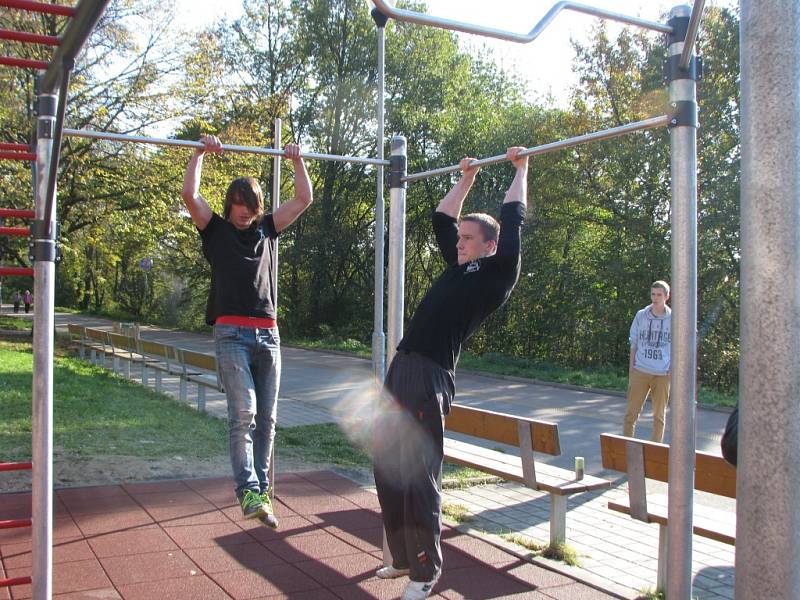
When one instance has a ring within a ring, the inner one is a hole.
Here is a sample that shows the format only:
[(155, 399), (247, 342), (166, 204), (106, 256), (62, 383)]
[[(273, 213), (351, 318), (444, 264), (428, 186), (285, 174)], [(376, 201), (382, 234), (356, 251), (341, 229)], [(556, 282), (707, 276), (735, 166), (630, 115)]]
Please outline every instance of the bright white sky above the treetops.
[[(476, 23), (516, 33), (528, 33), (556, 3), (556, 0), (428, 0), (428, 13), (439, 17)], [(372, 3), (365, 0), (365, 4)], [(680, 2), (675, 0), (584, 0), (583, 4), (650, 21), (663, 21), (662, 15)], [(738, 0), (707, 0), (708, 6), (734, 7)], [(201, 28), (219, 17), (241, 13), (240, 0), (177, 0), (179, 22)], [(489, 47), (495, 60), (528, 82), (529, 90), (540, 99), (552, 96), (566, 106), (570, 87), (577, 83), (571, 64), (575, 56), (571, 39), (585, 41), (597, 19), (575, 11), (562, 11), (533, 42), (519, 44), (470, 34), (459, 34), (464, 50), (477, 52)], [(615, 34), (622, 25), (609, 22)], [(652, 35), (657, 36), (656, 32)]]

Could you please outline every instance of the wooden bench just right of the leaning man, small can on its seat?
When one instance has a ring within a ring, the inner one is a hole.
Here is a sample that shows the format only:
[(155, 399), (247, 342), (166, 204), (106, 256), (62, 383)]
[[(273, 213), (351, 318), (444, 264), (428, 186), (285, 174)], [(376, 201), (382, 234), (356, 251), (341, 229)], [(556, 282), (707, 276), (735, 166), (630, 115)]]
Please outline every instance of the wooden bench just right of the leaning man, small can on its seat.
[(601, 490), (611, 482), (561, 467), (537, 463), (534, 452), (559, 456), (558, 425), (525, 417), (453, 404), (446, 421), (447, 432), (490, 440), (519, 448), (520, 456), (505, 454), (469, 442), (445, 438), (445, 460), (525, 484), (550, 495), (550, 543), (566, 539), (567, 497)]

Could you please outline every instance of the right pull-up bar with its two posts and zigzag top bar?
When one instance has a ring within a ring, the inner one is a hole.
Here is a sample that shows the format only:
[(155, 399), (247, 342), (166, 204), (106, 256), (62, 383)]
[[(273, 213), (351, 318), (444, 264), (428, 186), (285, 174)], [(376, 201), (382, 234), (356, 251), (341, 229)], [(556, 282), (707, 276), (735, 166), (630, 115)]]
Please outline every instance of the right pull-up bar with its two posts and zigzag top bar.
[[(667, 24), (653, 23), (617, 13), (592, 8), (575, 2), (559, 2), (527, 35), (491, 29), (471, 23), (452, 21), (397, 9), (388, 0), (373, 0), (388, 17), (399, 21), (430, 25), (442, 29), (474, 33), (507, 41), (527, 43), (536, 39), (562, 10), (574, 10), (597, 17), (612, 19), (666, 33), (668, 36), (670, 101), (673, 112), (614, 129), (590, 133), (560, 142), (529, 148), (523, 155), (537, 155), (562, 148), (604, 140), (627, 133), (668, 126), (670, 128), (672, 174), (672, 446), (670, 452), (669, 485), (669, 572), (659, 581), (671, 600), (691, 596), (692, 556), (692, 493), (694, 488), (694, 414), (696, 402), (697, 341), (697, 102), (695, 81), (699, 67), (693, 56), (695, 36), (704, 2), (694, 8), (677, 6)], [(388, 355), (391, 362), (394, 349), (403, 337), (404, 273), (405, 273), (405, 189), (409, 182), (458, 170), (458, 165), (422, 173), (406, 173), (405, 139), (392, 139), (390, 162), (390, 220), (389, 220), (389, 290), (388, 290)], [(505, 161), (505, 156), (493, 156), (474, 161), (489, 165)]]

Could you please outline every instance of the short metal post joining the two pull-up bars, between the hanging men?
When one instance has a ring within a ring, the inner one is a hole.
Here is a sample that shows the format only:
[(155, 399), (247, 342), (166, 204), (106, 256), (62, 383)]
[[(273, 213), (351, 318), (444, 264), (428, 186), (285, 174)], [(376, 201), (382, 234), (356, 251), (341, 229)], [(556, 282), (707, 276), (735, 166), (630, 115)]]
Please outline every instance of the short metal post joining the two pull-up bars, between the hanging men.
[(389, 316), (386, 364), (392, 363), (403, 339), (406, 269), (406, 138), (394, 136), (389, 156)]

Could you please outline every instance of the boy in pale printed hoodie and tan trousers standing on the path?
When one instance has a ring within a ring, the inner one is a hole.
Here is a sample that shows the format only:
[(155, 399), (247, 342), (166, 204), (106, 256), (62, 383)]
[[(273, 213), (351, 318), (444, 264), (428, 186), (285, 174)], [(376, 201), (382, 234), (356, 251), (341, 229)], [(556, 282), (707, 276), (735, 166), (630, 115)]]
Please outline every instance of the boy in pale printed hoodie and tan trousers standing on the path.
[(652, 304), (636, 313), (631, 323), (631, 353), (628, 368), (628, 410), (623, 435), (633, 437), (636, 421), (650, 393), (653, 403), (652, 441), (664, 439), (669, 401), (672, 310), (667, 306), (669, 284), (655, 281), (650, 286)]

